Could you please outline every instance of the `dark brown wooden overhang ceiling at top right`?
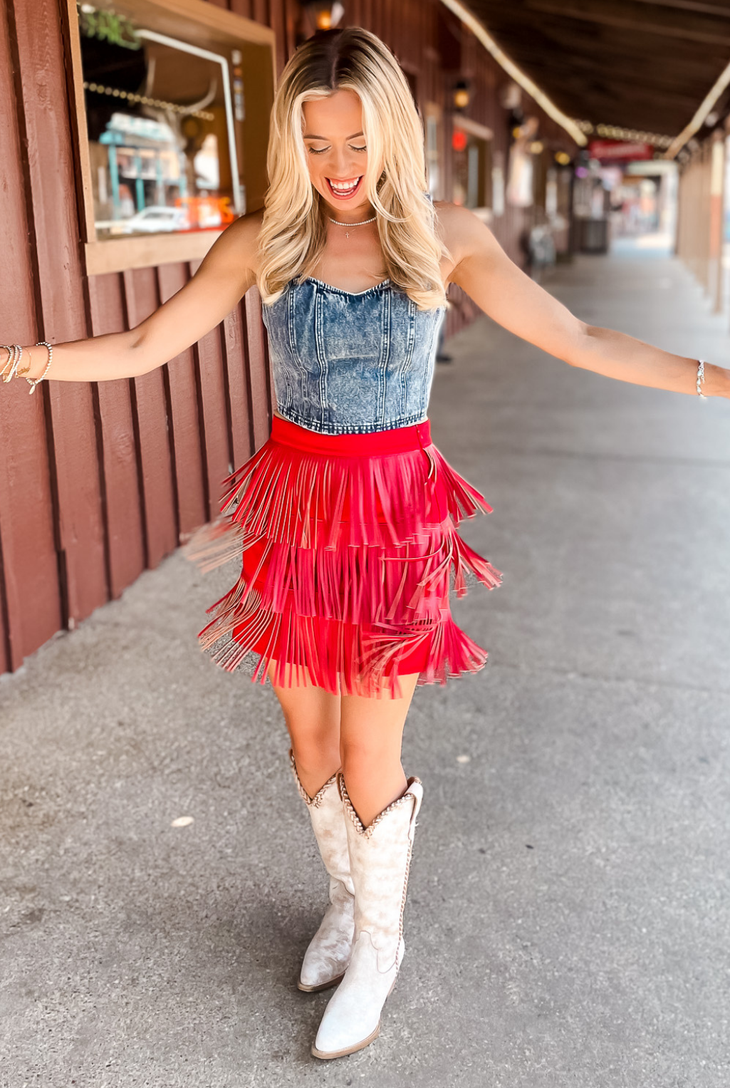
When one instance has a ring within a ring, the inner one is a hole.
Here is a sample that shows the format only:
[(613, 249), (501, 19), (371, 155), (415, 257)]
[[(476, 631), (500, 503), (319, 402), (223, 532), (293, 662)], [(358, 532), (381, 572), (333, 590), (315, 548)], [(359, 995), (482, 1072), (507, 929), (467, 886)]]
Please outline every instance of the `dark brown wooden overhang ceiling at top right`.
[[(569, 118), (677, 136), (730, 61), (722, 0), (466, 0)], [(715, 112), (726, 113), (730, 89)], [(705, 129), (698, 132), (703, 135)]]

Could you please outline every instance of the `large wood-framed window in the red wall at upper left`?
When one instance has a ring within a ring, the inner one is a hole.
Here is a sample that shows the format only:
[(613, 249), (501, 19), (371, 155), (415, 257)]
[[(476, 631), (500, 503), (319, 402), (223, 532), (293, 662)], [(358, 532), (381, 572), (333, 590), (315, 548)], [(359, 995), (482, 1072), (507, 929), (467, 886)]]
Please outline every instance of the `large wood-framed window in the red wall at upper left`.
[(69, 2), (88, 273), (203, 256), (263, 202), (273, 32), (202, 0)]

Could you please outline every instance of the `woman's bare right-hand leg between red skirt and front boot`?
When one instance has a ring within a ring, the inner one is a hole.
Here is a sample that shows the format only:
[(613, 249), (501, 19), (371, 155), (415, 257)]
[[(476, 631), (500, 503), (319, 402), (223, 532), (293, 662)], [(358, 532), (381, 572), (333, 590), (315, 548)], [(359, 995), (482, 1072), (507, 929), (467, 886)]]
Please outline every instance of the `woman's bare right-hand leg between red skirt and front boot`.
[(400, 677), (400, 698), (342, 695), (339, 752), (350, 801), (364, 827), (408, 784), (400, 764), (406, 715), (418, 673)]

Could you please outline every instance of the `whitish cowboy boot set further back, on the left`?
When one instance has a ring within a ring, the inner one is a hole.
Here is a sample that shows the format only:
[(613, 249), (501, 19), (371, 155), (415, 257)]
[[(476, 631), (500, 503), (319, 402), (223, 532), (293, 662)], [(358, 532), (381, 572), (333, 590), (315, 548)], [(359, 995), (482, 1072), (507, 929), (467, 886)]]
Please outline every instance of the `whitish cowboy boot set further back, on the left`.
[(350, 961), (355, 931), (355, 889), (337, 775), (329, 778), (314, 796), (310, 798), (299, 781), (292, 751), (289, 758), (294, 780), (309, 811), (314, 838), (324, 867), (330, 874), (330, 906), (305, 952), (297, 982), (300, 990), (313, 992), (336, 986)]

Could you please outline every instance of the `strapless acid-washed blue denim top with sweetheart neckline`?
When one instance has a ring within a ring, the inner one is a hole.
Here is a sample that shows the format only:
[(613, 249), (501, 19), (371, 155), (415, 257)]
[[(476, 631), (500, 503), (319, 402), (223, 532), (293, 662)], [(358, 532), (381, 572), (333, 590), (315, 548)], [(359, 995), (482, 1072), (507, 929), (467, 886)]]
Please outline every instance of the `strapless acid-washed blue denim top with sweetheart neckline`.
[(391, 280), (349, 292), (307, 276), (262, 312), (284, 419), (320, 434), (426, 419), (444, 306), (419, 310)]

